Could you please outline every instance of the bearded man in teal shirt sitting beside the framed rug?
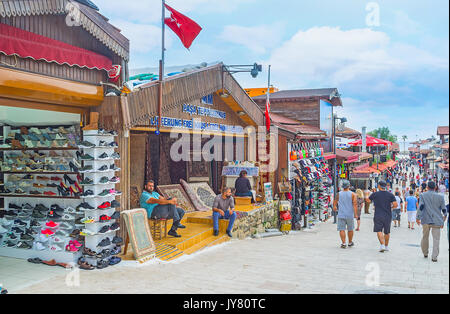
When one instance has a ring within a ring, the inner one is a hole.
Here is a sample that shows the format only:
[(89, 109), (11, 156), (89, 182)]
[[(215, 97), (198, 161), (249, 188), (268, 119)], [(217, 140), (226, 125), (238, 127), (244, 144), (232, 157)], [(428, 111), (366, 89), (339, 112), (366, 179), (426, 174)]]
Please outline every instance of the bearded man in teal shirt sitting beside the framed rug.
[(177, 229), (185, 229), (180, 222), (184, 216), (184, 210), (176, 207), (177, 199), (167, 200), (158, 193), (155, 192), (155, 183), (153, 181), (148, 181), (144, 186), (144, 191), (142, 192), (140, 204), (142, 208), (147, 210), (148, 218), (157, 219), (173, 219), (173, 225), (168, 235), (180, 238), (181, 235), (177, 233)]

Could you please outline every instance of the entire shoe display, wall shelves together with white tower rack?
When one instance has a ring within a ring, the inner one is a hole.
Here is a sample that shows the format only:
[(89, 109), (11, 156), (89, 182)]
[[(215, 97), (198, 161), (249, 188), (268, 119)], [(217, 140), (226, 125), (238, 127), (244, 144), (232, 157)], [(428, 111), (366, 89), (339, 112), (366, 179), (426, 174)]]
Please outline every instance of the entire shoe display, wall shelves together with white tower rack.
[[(4, 126), (2, 134), (0, 256), (75, 263), (81, 269), (118, 264), (117, 134), (82, 135), (79, 126)], [(83, 159), (88, 155), (91, 160)], [(80, 263), (87, 248), (102, 258), (100, 266)]]

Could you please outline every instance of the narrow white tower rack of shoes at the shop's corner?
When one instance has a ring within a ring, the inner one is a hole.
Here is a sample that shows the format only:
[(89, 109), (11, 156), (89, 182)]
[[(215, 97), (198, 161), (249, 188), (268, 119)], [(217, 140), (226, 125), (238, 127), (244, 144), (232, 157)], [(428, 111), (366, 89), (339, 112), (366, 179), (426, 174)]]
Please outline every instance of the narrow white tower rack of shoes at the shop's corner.
[(115, 190), (119, 183), (117, 173), (121, 170), (116, 161), (120, 160), (115, 151), (118, 148), (114, 142), (117, 136), (114, 132), (101, 132), (89, 130), (83, 132), (84, 141), (80, 144), (82, 154), (80, 156), (83, 167), (80, 172), (84, 175), (81, 182), (84, 193), (82, 195), (85, 215), (85, 248), (83, 249), (82, 263), (103, 268), (116, 262), (117, 257), (110, 259), (113, 255), (120, 253), (121, 239), (116, 237), (120, 230), (120, 215), (116, 208), (120, 207), (117, 198), (120, 199), (121, 192)]

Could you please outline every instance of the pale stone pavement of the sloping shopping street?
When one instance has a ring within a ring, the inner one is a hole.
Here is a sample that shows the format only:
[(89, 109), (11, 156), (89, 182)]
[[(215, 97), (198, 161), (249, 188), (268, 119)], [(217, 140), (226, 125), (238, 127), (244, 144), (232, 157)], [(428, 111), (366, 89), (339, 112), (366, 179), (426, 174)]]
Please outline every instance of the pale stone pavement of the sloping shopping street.
[[(372, 210), (372, 209), (371, 209)], [(406, 214), (393, 228), (391, 252), (379, 253), (372, 215), (362, 217), (356, 246), (341, 249), (331, 221), (287, 236), (233, 240), (170, 262), (133, 262), (81, 271), (79, 286), (65, 276), (13, 293), (449, 293), (447, 227), (438, 263), (425, 259), (421, 228), (409, 230)]]

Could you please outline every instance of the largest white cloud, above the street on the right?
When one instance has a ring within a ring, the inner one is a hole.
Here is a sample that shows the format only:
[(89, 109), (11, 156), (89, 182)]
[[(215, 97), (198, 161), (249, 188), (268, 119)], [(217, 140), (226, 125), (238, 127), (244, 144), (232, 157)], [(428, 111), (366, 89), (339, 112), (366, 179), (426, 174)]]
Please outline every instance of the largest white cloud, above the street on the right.
[(392, 44), (384, 32), (338, 27), (297, 32), (272, 52), (268, 63), (289, 88), (344, 85), (347, 92), (395, 91), (396, 80), (448, 71), (448, 57)]

